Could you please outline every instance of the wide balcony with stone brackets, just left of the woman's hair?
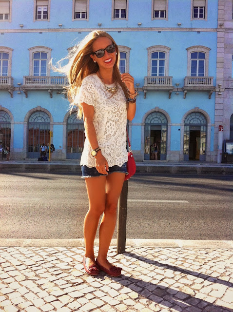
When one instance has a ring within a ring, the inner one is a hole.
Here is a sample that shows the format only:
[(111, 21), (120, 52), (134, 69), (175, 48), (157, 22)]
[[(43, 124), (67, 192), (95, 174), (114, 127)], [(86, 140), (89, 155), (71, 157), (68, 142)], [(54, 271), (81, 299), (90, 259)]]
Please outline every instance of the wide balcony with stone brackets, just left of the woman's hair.
[(68, 85), (68, 79), (64, 76), (23, 76), (23, 85), (21, 86), (27, 98), (28, 90), (48, 90), (50, 98), (52, 92), (60, 93)]

